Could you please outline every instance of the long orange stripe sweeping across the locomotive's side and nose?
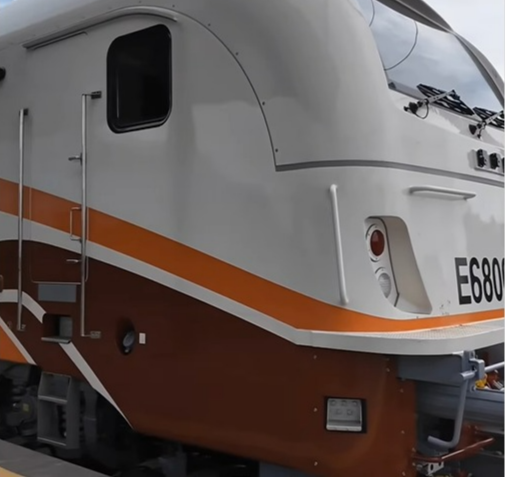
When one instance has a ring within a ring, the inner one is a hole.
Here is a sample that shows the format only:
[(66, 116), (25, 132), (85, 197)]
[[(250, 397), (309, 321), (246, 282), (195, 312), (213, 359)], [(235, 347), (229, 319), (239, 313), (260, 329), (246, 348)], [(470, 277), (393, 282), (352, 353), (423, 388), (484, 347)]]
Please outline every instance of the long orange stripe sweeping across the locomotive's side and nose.
[[(0, 210), (17, 214), (17, 184), (0, 179)], [(78, 204), (26, 190), (25, 217), (69, 232), (69, 210)], [(28, 209), (28, 207), (27, 207)], [(390, 320), (344, 310), (289, 290), (186, 245), (90, 209), (90, 241), (212, 290), (298, 329), (334, 332), (398, 332), (476, 323), (503, 317), (503, 310)]]

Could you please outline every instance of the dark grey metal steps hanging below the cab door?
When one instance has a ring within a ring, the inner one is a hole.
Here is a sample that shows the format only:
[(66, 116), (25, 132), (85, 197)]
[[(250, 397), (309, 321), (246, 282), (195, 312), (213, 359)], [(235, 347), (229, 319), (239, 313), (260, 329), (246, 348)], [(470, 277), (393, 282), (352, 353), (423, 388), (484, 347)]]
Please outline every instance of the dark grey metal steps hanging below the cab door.
[(37, 440), (67, 450), (81, 441), (81, 392), (71, 376), (42, 373), (38, 389)]

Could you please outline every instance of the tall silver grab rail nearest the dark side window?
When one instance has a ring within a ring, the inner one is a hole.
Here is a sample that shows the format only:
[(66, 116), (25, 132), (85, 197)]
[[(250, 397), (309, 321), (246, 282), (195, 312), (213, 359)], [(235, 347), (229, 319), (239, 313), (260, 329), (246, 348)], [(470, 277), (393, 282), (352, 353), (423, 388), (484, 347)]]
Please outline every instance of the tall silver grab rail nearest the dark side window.
[[(86, 333), (86, 279), (88, 275), (88, 98), (99, 99), (102, 97), (101, 91), (83, 94), (81, 97), (81, 149), (82, 152), (78, 156), (70, 157), (70, 161), (80, 161), (81, 163), (81, 259), (78, 261), (81, 266), (80, 270), (80, 307), (79, 307), (79, 321), (80, 321), (80, 335), (81, 338), (95, 338), (98, 339), (101, 333), (92, 331)], [(72, 213), (74, 209), (70, 210)], [(72, 230), (70, 231), (72, 233)], [(68, 260), (70, 263), (75, 263), (75, 260)]]

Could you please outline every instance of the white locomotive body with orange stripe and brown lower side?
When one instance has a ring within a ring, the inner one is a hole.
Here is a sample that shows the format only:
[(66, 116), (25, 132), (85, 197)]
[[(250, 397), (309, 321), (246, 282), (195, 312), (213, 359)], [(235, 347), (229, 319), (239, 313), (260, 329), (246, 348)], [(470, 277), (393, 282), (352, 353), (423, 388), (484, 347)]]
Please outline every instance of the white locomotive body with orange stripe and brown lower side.
[(153, 438), (390, 477), (487, 422), (416, 424), (503, 361), (505, 269), (503, 81), (423, 2), (14, 0), (0, 68), (0, 360), (42, 372), (39, 441), (80, 449), (95, 393)]

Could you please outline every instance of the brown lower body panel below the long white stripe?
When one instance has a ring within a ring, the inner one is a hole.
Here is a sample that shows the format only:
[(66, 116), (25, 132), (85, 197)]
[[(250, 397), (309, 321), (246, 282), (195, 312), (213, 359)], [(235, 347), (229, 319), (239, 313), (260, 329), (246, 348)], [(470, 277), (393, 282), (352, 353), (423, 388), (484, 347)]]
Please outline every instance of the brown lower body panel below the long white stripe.
[[(24, 291), (37, 299), (36, 281), (78, 277), (69, 255), (25, 242)], [(5, 289), (17, 288), (16, 263), (17, 243), (0, 243)], [(79, 337), (78, 298), (40, 305), (72, 317), (72, 342), (141, 433), (320, 476), (415, 475), (414, 388), (396, 378), (392, 358), (296, 346), (96, 260), (89, 261), (86, 327), (101, 339)], [(16, 305), (0, 304), (0, 316), (15, 324)], [(12, 330), (38, 366), (84, 379), (60, 345), (41, 340), (47, 329), (27, 310), (23, 320), (24, 332)], [(146, 336), (129, 355), (119, 347), (125, 323)], [(328, 397), (366, 400), (365, 432), (327, 431)]]

